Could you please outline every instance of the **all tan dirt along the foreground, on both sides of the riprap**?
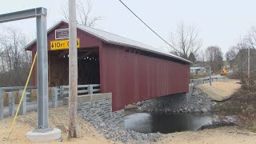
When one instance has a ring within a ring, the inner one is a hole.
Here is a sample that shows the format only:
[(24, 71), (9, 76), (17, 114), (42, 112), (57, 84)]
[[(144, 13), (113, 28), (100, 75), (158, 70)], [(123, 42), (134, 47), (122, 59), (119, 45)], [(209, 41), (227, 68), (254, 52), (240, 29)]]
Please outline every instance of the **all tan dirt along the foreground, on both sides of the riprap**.
[[(0, 120), (0, 143), (31, 143), (26, 139), (25, 134), (29, 130), (34, 130), (37, 125), (37, 113), (30, 112), (25, 116), (18, 116), (14, 131), (10, 135), (9, 141), (6, 141), (12, 119), (13, 117), (9, 117)], [(50, 127), (56, 127), (62, 130), (63, 138), (63, 142), (54, 141), (50, 143), (121, 143), (107, 140), (102, 134), (99, 134), (89, 122), (84, 121), (82, 118), (78, 118), (79, 137), (69, 140), (66, 133), (68, 117), (67, 108), (65, 106), (50, 109), (49, 121)], [(256, 133), (251, 133), (247, 130), (239, 130), (236, 126), (226, 126), (211, 130), (163, 134), (162, 140), (156, 143), (256, 143)]]

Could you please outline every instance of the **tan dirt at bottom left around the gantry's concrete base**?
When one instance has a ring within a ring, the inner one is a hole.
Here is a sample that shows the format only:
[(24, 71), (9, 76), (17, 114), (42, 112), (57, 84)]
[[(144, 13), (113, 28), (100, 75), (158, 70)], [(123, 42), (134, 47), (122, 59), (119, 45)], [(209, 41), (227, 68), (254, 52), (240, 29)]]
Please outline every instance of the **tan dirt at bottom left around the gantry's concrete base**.
[[(17, 122), (14, 126), (14, 130), (10, 135), (9, 141), (6, 138), (10, 131), (10, 125), (13, 117), (4, 118), (0, 120), (0, 143), (31, 143), (26, 139), (26, 132), (34, 130), (37, 126), (37, 112), (30, 112), (25, 116), (18, 116)], [(98, 134), (93, 126), (89, 122), (84, 121), (82, 118), (78, 118), (78, 138), (69, 140), (67, 138), (66, 127), (68, 126), (68, 109), (65, 106), (60, 106), (55, 109), (50, 109), (49, 114), (50, 127), (58, 128), (62, 130), (63, 142), (68, 143), (114, 143), (107, 140)], [(61, 143), (54, 141), (50, 143)]]

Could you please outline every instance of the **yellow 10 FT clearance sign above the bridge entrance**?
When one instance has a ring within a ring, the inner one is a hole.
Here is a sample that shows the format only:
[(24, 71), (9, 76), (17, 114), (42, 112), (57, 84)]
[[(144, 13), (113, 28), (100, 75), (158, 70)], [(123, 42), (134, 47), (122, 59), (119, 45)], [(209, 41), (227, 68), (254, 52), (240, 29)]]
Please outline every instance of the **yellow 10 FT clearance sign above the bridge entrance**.
[[(80, 48), (80, 39), (77, 39), (77, 47)], [(50, 50), (66, 50), (69, 49), (69, 40), (50, 41)]]

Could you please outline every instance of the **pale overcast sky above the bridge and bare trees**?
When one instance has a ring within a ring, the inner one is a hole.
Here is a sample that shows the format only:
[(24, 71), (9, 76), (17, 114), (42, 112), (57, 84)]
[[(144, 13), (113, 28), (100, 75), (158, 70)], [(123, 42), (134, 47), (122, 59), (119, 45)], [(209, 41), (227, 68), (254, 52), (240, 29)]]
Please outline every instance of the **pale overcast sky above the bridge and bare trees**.
[[(256, 26), (255, 0), (123, 0), (162, 38), (170, 39), (179, 22), (198, 28), (202, 48), (220, 46), (225, 53), (238, 42), (251, 26)], [(34, 7), (46, 7), (47, 26), (53, 26), (63, 18), (62, 7), (66, 0), (7, 0), (1, 2), (0, 14)], [(95, 28), (122, 35), (150, 46), (166, 49), (167, 45), (126, 10), (118, 0), (94, 0), (93, 15), (101, 16)], [(35, 38), (35, 19), (8, 22)], [(3, 24), (0, 24), (3, 26)]]

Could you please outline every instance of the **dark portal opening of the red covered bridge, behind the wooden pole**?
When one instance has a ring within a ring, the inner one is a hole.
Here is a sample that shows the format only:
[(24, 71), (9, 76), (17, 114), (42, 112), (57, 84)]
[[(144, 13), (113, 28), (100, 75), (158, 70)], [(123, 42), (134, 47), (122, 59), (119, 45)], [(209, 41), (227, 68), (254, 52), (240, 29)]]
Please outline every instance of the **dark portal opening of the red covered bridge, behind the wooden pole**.
[[(69, 50), (49, 51), (49, 85), (69, 85)], [(78, 85), (99, 84), (98, 48), (78, 48)]]

